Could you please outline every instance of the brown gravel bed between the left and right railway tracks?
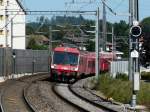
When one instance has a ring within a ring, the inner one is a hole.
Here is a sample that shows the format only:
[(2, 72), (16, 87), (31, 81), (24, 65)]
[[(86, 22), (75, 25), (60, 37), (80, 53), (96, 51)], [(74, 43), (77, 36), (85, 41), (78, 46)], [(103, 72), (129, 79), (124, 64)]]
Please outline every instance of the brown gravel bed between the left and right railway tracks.
[(38, 112), (80, 112), (60, 99), (52, 90), (52, 83), (38, 82), (28, 88), (27, 99)]

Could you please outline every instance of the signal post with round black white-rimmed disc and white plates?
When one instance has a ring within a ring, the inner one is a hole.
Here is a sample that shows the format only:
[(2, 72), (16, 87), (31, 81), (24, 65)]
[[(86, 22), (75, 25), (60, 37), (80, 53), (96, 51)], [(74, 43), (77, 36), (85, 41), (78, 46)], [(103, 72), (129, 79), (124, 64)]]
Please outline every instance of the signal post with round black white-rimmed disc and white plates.
[(139, 37), (141, 35), (141, 27), (137, 21), (133, 22), (133, 26), (130, 28), (130, 37), (132, 49), (130, 50), (130, 56), (132, 60), (132, 81), (133, 81), (133, 94), (131, 107), (136, 107), (136, 94), (140, 89), (140, 67), (139, 67)]

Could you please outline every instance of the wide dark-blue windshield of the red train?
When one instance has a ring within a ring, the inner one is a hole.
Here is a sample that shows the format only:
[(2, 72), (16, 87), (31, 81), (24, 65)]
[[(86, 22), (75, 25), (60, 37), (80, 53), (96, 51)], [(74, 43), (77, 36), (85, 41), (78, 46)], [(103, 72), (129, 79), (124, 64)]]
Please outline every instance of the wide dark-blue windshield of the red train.
[(68, 52), (54, 52), (53, 64), (76, 66), (78, 64), (78, 54)]

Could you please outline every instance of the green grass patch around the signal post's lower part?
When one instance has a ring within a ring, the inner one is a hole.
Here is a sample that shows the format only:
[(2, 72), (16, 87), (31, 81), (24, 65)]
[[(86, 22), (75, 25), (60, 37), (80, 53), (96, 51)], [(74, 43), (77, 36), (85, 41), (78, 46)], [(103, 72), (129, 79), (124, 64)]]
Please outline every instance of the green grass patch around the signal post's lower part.
[[(101, 75), (95, 89), (101, 91), (106, 97), (122, 103), (130, 103), (132, 96), (132, 82), (122, 79), (113, 79), (108, 74)], [(141, 81), (137, 103), (150, 108), (150, 83)]]

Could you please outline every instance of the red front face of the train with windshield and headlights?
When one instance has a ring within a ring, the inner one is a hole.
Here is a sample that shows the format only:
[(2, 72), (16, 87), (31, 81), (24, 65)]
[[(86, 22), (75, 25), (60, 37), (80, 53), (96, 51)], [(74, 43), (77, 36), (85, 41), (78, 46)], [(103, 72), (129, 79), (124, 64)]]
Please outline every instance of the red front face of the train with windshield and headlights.
[(79, 51), (77, 48), (55, 48), (52, 55), (51, 78), (65, 82), (75, 80), (78, 73), (78, 64)]

